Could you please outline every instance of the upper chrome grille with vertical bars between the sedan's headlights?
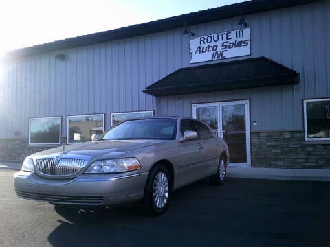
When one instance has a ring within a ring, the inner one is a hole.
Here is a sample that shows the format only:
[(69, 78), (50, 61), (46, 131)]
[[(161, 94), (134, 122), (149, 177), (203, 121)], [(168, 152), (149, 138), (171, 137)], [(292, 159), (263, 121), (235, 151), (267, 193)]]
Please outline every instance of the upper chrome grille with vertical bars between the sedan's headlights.
[(86, 165), (85, 159), (61, 158), (55, 163), (54, 158), (37, 159), (37, 172), (48, 176), (71, 176), (78, 173)]

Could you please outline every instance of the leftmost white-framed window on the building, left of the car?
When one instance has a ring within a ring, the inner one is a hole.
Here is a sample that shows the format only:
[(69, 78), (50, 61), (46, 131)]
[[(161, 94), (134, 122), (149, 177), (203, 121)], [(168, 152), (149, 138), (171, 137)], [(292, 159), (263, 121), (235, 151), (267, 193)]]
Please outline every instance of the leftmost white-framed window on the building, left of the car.
[(61, 117), (29, 119), (29, 145), (61, 144)]

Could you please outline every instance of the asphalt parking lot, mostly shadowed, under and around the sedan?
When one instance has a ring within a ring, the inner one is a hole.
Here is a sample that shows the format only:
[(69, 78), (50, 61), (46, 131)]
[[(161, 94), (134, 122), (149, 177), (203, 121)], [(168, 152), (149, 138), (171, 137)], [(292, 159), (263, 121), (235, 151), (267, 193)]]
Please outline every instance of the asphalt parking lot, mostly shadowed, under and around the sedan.
[(229, 178), (173, 192), (159, 217), (138, 207), (54, 207), (17, 198), (0, 170), (0, 246), (330, 246), (330, 183)]

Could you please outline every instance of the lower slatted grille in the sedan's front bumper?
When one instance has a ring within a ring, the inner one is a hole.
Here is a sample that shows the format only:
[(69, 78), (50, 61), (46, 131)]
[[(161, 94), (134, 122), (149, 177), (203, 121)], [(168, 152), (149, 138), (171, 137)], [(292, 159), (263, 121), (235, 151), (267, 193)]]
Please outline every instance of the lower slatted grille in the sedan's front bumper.
[(17, 196), (24, 199), (40, 200), (43, 202), (58, 204), (75, 205), (101, 205), (103, 196), (71, 196), (71, 195), (52, 195), (45, 193), (31, 193), (25, 191), (16, 191)]

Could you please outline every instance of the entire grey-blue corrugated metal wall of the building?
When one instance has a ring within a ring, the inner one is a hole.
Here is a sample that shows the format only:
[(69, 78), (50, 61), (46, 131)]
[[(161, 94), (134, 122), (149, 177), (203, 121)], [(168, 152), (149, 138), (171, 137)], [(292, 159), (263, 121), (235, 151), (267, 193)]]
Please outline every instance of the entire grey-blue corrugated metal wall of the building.
[[(300, 73), (300, 84), (155, 99), (142, 89), (190, 64), (189, 36), (170, 30), (137, 38), (41, 54), (6, 64), (0, 77), (0, 138), (28, 137), (29, 117), (156, 110), (192, 115), (192, 103), (250, 99), (254, 130), (303, 129), (303, 98), (329, 97), (330, 2), (245, 16), (252, 56)], [(237, 19), (192, 26), (197, 36), (239, 29)], [(56, 54), (65, 54), (63, 61)], [(248, 58), (248, 57), (244, 57)], [(236, 58), (240, 59), (240, 58)], [(216, 61), (227, 62), (228, 60)], [(202, 63), (205, 64), (205, 63)], [(157, 107), (156, 107), (157, 102)]]

